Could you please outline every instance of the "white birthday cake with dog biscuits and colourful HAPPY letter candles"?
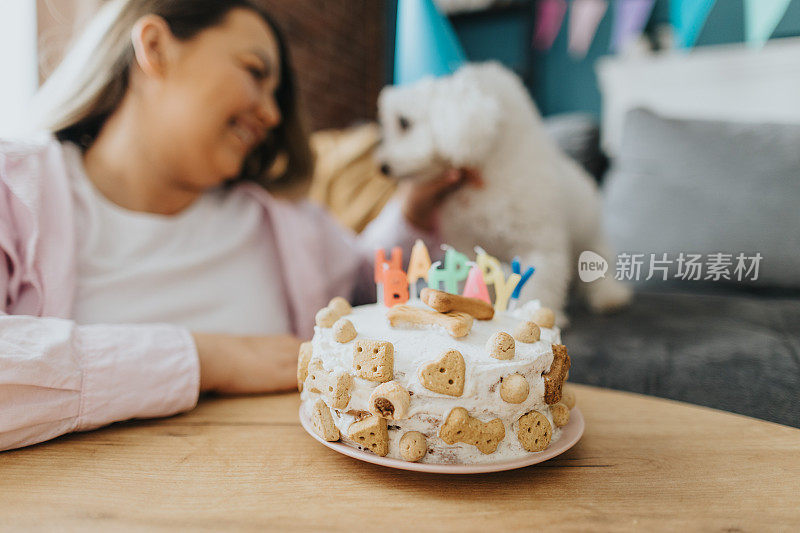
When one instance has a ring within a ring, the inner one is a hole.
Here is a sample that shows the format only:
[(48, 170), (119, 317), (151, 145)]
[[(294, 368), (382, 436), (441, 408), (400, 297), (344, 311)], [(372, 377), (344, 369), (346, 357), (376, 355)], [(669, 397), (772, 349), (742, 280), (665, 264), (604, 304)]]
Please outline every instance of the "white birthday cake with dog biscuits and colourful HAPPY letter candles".
[[(476, 265), (448, 250), (445, 268), (426, 270), (418, 246), (407, 273), (399, 250), (391, 261), (378, 255), (382, 303), (334, 298), (317, 313), (298, 358), (304, 416), (326, 441), (405, 461), (497, 462), (547, 449), (575, 404), (554, 313), (536, 301), (508, 310), (523, 276), (506, 278), (494, 258), (479, 254)], [(428, 287), (412, 297), (420, 278)]]

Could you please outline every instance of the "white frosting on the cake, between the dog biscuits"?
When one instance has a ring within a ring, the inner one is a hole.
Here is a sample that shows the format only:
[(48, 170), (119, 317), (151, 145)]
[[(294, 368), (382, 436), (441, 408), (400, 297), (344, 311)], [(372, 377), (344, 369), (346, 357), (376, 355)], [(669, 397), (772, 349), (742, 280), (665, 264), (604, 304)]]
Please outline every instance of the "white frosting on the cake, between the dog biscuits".
[[(425, 307), (419, 300), (408, 305)], [(538, 302), (529, 302), (524, 307), (505, 313), (496, 313), (492, 320), (475, 320), (470, 333), (462, 338), (453, 338), (441, 327), (396, 328), (390, 327), (386, 319), (388, 308), (372, 304), (353, 308), (346, 316), (355, 326), (356, 339), (339, 343), (333, 338), (332, 328), (315, 328), (312, 359), (319, 359), (328, 371), (353, 374), (353, 346), (355, 340), (370, 339), (388, 341), (394, 345), (394, 380), (399, 381), (412, 394), (408, 418), (389, 420), (388, 457), (400, 459), (398, 442), (407, 431), (419, 431), (428, 439), (428, 454), (424, 463), (482, 463), (515, 459), (532, 452), (522, 448), (517, 439), (517, 421), (529, 411), (536, 410), (547, 416), (553, 427), (554, 442), (560, 431), (552, 422), (550, 409), (544, 402), (544, 380), (553, 361), (551, 345), (561, 343), (557, 327), (541, 328), (541, 340), (535, 343), (516, 341), (515, 355), (509, 360), (494, 359), (489, 355), (486, 343), (494, 333), (504, 331), (513, 334), (522, 320), (530, 319)], [(422, 386), (417, 371), (425, 363), (438, 359), (448, 350), (458, 350), (466, 363), (466, 379), (461, 396), (438, 394)], [(523, 375), (530, 386), (525, 401), (512, 404), (500, 397), (500, 379), (511, 374)], [(320, 395), (309, 390), (308, 379), (303, 388), (304, 409), (310, 408)], [(355, 421), (356, 411), (367, 411), (372, 390), (379, 385), (358, 377), (350, 402), (345, 409), (331, 409), (333, 419), (341, 431), (342, 441), (355, 446), (347, 438), (347, 430)], [(324, 399), (324, 396), (322, 396)], [(330, 403), (330, 402), (326, 402)], [(470, 444), (446, 444), (439, 438), (439, 428), (455, 407), (465, 408), (470, 415), (483, 422), (500, 418), (505, 426), (505, 437), (497, 450), (491, 454), (481, 453)], [(352, 414), (348, 414), (350, 411)]]

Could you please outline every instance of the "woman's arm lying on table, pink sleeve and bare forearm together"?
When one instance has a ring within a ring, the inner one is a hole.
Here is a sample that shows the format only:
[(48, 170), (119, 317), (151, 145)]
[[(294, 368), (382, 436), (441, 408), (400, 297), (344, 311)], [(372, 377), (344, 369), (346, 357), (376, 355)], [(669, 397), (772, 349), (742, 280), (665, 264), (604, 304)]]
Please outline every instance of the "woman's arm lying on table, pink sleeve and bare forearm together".
[(201, 389), (292, 390), (299, 345), (289, 335), (0, 315), (0, 450), (130, 418), (171, 416), (192, 409)]

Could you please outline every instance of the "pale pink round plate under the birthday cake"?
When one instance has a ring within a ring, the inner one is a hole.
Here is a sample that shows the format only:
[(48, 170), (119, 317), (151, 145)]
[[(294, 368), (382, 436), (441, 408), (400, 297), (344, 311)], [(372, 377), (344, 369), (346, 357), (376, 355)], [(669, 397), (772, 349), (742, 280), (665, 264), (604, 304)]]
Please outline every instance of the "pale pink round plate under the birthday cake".
[(575, 443), (580, 440), (584, 428), (583, 415), (577, 407), (574, 407), (569, 413), (569, 423), (561, 428), (561, 437), (544, 451), (531, 453), (519, 459), (499, 461), (496, 463), (433, 464), (411, 463), (399, 459), (390, 459), (389, 457), (381, 457), (371, 452), (361, 451), (358, 448), (342, 444), (341, 442), (328, 442), (316, 434), (311, 420), (303, 414), (302, 406), (300, 408), (300, 423), (303, 424), (303, 429), (305, 429), (309, 435), (331, 450), (335, 450), (341, 454), (366, 461), (367, 463), (388, 466), (389, 468), (414, 470), (416, 472), (431, 472), (435, 474), (481, 474), (485, 472), (501, 472), (503, 470), (513, 470), (515, 468), (541, 463), (572, 448)]

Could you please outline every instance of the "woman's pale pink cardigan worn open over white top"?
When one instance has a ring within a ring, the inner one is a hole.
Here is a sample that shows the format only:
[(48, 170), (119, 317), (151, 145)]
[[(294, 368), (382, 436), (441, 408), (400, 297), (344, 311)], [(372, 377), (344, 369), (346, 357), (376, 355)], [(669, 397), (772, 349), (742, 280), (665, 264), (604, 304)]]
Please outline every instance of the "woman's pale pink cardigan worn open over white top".
[[(199, 365), (190, 332), (169, 324), (71, 321), (76, 250), (63, 147), (0, 141), (0, 450), (129, 418), (195, 406)], [(275, 236), (294, 334), (310, 338), (314, 315), (334, 296), (374, 298), (375, 248), (435, 239), (390, 203), (360, 236), (308, 202), (255, 198)]]

